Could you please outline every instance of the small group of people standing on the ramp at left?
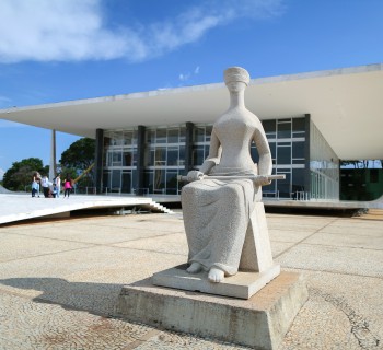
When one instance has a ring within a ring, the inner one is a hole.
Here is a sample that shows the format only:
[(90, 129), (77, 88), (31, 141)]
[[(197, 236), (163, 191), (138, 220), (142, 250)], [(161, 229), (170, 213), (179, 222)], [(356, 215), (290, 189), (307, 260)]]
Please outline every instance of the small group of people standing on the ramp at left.
[[(67, 174), (62, 182), (63, 198), (69, 198), (72, 187), (73, 180)], [(32, 197), (39, 197), (40, 188), (45, 198), (59, 198), (61, 192), (61, 175), (57, 174), (54, 180), (49, 182), (46, 175), (42, 176), (38, 172), (35, 172), (32, 176)]]

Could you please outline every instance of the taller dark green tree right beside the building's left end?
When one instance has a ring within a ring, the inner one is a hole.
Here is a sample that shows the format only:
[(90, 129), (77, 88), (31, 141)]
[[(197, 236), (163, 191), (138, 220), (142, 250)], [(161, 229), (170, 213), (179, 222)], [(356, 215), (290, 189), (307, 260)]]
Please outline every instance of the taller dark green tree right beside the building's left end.
[[(82, 138), (73, 142), (68, 150), (63, 151), (60, 160), (61, 173), (63, 176), (70, 174), (74, 179), (78, 175), (86, 171), (95, 159), (95, 140), (90, 138)], [(62, 178), (62, 176), (61, 176)], [(80, 186), (94, 185), (94, 172), (89, 172), (79, 180)]]

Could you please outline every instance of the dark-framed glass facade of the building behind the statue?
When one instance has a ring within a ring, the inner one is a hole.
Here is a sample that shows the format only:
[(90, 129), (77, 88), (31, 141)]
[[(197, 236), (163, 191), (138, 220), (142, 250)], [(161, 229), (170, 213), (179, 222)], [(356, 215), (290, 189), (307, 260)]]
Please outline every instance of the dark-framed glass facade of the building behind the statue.
[[(286, 176), (264, 186), (265, 197), (338, 198), (339, 160), (310, 116), (264, 120), (263, 126), (271, 150), (272, 174)], [(194, 125), (190, 143), (186, 144), (185, 125), (147, 127), (142, 162), (137, 160), (137, 130), (105, 131), (103, 191), (178, 195), (183, 184), (177, 175), (202, 164), (209, 153), (211, 130), (212, 125)], [(185, 164), (186, 149), (190, 150), (190, 164)], [(258, 162), (255, 144), (251, 152)], [(138, 168), (138, 164), (142, 166)], [(138, 173), (143, 176), (143, 188), (137, 188)]]

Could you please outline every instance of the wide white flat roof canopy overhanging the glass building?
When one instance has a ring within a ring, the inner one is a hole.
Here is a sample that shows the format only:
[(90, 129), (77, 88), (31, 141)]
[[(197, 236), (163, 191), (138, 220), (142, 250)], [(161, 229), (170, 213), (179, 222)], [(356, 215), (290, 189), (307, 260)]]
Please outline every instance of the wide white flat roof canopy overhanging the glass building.
[[(259, 119), (310, 114), (343, 160), (383, 159), (383, 65), (253, 79), (246, 107)], [(223, 83), (0, 109), (0, 118), (83, 137), (95, 130), (213, 122)]]

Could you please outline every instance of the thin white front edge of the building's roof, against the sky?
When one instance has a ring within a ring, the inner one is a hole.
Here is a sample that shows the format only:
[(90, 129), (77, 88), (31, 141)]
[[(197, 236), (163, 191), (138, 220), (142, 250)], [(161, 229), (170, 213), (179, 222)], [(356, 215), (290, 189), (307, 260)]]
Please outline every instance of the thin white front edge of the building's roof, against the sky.
[[(325, 77), (343, 75), (343, 74), (357, 74), (357, 73), (365, 73), (365, 72), (373, 72), (373, 71), (383, 71), (383, 63), (372, 63), (367, 66), (356, 66), (356, 67), (339, 68), (339, 69), (332, 69), (332, 70), (320, 70), (320, 71), (312, 71), (312, 72), (297, 73), (297, 74), (255, 78), (251, 80), (249, 84), (260, 85), (266, 83), (277, 83), (277, 82), (283, 82), (283, 81), (312, 79), (312, 78), (325, 78)], [(202, 84), (202, 85), (190, 85), (190, 86), (172, 88), (172, 89), (159, 89), (159, 90), (152, 90), (147, 92), (136, 92), (136, 93), (112, 95), (112, 96), (104, 96), (104, 97), (71, 100), (71, 101), (65, 101), (65, 102), (56, 102), (56, 103), (32, 105), (32, 106), (24, 106), (24, 107), (9, 107), (9, 108), (0, 109), (0, 114), (22, 112), (22, 110), (76, 106), (76, 105), (93, 104), (93, 103), (105, 103), (105, 102), (123, 101), (123, 100), (130, 100), (130, 98), (147, 98), (147, 97), (171, 95), (171, 94), (178, 94), (178, 93), (193, 92), (193, 91), (214, 90), (223, 86), (224, 86), (224, 83), (222, 82), (222, 83), (209, 83), (209, 84)]]

